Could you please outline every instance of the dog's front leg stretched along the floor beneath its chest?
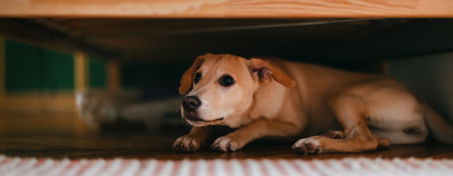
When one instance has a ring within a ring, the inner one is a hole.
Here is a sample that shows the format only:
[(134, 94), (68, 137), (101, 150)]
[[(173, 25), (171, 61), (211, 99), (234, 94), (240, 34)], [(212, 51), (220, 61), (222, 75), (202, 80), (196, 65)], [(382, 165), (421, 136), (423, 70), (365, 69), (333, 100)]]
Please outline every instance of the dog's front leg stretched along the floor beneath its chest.
[(291, 137), (300, 133), (300, 128), (289, 122), (258, 119), (233, 133), (217, 138), (211, 145), (215, 151), (236, 151), (247, 143), (262, 137)]

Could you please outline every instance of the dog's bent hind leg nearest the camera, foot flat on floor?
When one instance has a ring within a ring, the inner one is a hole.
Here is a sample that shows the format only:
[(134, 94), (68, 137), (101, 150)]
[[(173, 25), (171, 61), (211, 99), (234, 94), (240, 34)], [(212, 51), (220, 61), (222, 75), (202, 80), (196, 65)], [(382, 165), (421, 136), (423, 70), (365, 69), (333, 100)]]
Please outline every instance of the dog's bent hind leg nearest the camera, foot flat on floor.
[(372, 135), (368, 129), (363, 100), (353, 94), (339, 94), (329, 105), (344, 128), (344, 139), (313, 136), (298, 140), (292, 148), (299, 153), (363, 152), (390, 145), (389, 139)]

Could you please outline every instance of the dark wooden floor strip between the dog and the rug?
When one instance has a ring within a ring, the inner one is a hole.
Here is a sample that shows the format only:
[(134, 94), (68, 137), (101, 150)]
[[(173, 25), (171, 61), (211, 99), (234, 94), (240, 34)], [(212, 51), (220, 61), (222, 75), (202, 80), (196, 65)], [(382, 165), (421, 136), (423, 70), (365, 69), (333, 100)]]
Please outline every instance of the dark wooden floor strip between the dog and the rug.
[(391, 146), (365, 153), (328, 153), (300, 155), (291, 144), (260, 142), (240, 151), (221, 153), (202, 148), (196, 153), (175, 153), (173, 141), (180, 132), (164, 134), (97, 134), (84, 137), (35, 136), (1, 137), (0, 154), (50, 158), (138, 158), (138, 159), (338, 159), (345, 157), (383, 158), (449, 158), (453, 146), (428, 142), (420, 145)]

